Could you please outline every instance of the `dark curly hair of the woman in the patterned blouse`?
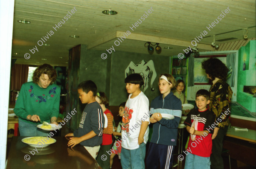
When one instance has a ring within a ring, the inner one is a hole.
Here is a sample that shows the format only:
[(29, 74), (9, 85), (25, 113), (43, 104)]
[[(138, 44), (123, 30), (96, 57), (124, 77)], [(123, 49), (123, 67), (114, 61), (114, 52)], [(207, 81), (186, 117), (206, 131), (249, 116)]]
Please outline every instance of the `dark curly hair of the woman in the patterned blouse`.
[(205, 73), (209, 75), (212, 81), (216, 77), (223, 81), (226, 81), (227, 79), (228, 68), (220, 59), (211, 57), (210, 59), (202, 62), (202, 68), (205, 70)]

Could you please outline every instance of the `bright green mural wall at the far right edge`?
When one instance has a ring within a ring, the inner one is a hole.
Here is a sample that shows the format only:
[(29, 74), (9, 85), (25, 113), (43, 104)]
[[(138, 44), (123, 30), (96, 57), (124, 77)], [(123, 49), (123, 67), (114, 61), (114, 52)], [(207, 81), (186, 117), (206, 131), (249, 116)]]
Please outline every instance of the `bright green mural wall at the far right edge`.
[[(246, 70), (243, 70), (243, 64)], [(256, 98), (244, 93), (244, 86), (256, 86), (256, 40), (251, 40), (239, 49), (237, 102), (250, 112), (256, 112)]]

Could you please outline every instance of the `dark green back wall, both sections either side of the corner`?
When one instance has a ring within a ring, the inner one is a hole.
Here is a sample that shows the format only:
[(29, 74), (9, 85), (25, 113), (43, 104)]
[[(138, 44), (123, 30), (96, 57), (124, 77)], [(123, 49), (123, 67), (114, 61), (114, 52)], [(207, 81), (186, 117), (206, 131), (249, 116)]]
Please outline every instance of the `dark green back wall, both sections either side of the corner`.
[[(73, 76), (69, 80), (78, 79), (78, 84), (85, 80), (92, 80), (97, 85), (98, 91), (106, 93), (110, 101), (110, 105), (112, 106), (117, 106), (128, 99), (124, 80), (125, 69), (131, 61), (134, 62), (134, 64), (138, 64), (142, 60), (145, 62), (153, 60), (154, 62), (154, 68), (157, 72), (157, 77), (153, 83), (155, 90), (151, 91), (150, 78), (148, 82), (148, 89), (145, 91), (145, 95), (148, 97), (149, 103), (151, 103), (152, 99), (160, 94), (158, 90), (159, 74), (169, 72), (170, 59), (168, 56), (116, 51), (112, 54), (108, 54), (107, 59), (102, 59), (101, 54), (105, 53), (105, 51), (87, 50), (86, 45), (81, 45), (81, 51), (76, 50), (73, 52), (76, 54), (80, 53), (81, 56), (80, 62), (79, 58), (70, 58), (74, 71), (72, 71)], [(68, 91), (72, 91), (73, 93), (73, 99), (70, 100), (70, 103), (72, 104), (70, 108), (73, 110), (74, 107), (77, 107), (78, 110), (76, 117), (71, 121), (72, 130), (78, 127), (82, 111), (85, 107), (85, 104), (81, 104), (81, 101), (78, 99), (77, 85), (73, 85), (72, 89), (68, 89)]]

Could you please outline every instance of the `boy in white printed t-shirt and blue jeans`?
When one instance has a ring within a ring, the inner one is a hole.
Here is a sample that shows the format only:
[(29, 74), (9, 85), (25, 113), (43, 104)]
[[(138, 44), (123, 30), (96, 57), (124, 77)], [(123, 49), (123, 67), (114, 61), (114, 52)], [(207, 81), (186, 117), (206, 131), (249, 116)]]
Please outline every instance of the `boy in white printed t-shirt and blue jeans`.
[(122, 118), (122, 169), (145, 169), (145, 145), (149, 133), (148, 98), (140, 91), (144, 84), (140, 74), (127, 76), (125, 83), (130, 95)]

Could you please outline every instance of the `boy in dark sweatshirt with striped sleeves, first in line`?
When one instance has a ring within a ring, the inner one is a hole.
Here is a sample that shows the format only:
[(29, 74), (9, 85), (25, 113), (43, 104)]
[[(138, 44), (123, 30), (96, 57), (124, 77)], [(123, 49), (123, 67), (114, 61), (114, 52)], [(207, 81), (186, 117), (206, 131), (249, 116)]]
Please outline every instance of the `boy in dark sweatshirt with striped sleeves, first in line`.
[(99, 103), (95, 100), (97, 87), (91, 80), (81, 82), (78, 85), (79, 99), (84, 107), (79, 128), (74, 133), (68, 133), (70, 137), (68, 146), (81, 144), (95, 159), (98, 155), (100, 144), (102, 144), (102, 133), (104, 129), (104, 115)]

